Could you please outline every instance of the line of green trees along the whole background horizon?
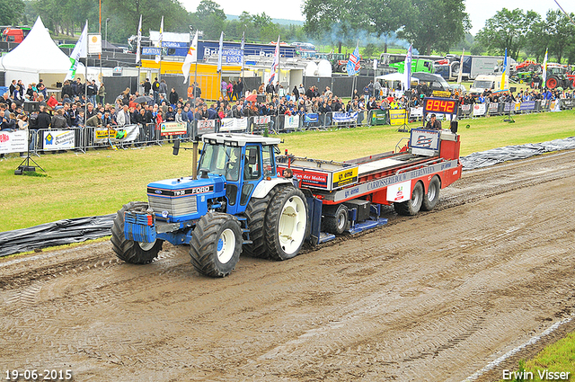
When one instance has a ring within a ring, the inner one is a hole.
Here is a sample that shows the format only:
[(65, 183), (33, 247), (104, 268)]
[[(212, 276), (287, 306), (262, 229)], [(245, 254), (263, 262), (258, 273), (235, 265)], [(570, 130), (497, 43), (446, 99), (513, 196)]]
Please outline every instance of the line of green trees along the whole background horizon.
[[(296, 6), (296, 5), (294, 5)], [(50, 31), (74, 36), (88, 20), (89, 31), (99, 31), (98, 2), (93, 0), (0, 0), (0, 23), (33, 23), (40, 15)], [(243, 12), (228, 20), (219, 4), (201, 0), (195, 12), (188, 12), (179, 0), (102, 0), (102, 35), (123, 45), (137, 33), (142, 14), (142, 31), (158, 31), (164, 15), (164, 31), (203, 31), (203, 39), (240, 40), (245, 32), (250, 42), (269, 43), (278, 35), (285, 41), (367, 49), (367, 54), (384, 51), (388, 45), (413, 45), (420, 54), (446, 54), (462, 49), (483, 53), (526, 57), (542, 61), (545, 49), (561, 62), (575, 62), (575, 15), (560, 10), (539, 13), (503, 8), (496, 12), (476, 36), (469, 34), (471, 23), (464, 0), (305, 0), (303, 26), (281, 25), (269, 15)], [(108, 20), (108, 22), (106, 22)]]

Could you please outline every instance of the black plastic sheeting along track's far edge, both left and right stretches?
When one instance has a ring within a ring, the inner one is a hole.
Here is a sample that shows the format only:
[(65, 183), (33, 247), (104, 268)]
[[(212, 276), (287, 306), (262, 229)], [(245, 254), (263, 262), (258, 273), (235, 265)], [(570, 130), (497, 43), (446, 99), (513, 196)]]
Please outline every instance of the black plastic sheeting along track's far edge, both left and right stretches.
[[(501, 162), (526, 159), (551, 151), (575, 148), (575, 137), (549, 142), (493, 148), (461, 158), (464, 170), (487, 167)], [(80, 243), (111, 235), (116, 214), (91, 218), (58, 220), (36, 227), (0, 232), (0, 257), (13, 253), (33, 251), (37, 248)]]

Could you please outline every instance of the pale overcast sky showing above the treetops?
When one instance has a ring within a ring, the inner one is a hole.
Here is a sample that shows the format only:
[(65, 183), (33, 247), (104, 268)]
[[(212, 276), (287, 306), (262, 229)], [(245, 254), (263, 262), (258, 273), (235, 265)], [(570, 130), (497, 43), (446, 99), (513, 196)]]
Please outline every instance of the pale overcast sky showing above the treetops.
[[(195, 12), (200, 0), (181, 0), (186, 9)], [(270, 2), (269, 0), (250, 0), (249, 2), (237, 0), (214, 0), (224, 10), (226, 14), (240, 15), (243, 11), (250, 14), (265, 12), (274, 19), (288, 19), (304, 21), (305, 17), (301, 13), (303, 0), (293, 0), (291, 2)], [(361, 0), (358, 0), (361, 1)], [(567, 13), (575, 13), (575, 1), (557, 0)], [(249, 4), (249, 8), (247, 6)], [(504, 6), (507, 9), (522, 8), (523, 10), (533, 10), (541, 14), (544, 18), (549, 9), (559, 9), (553, 0), (466, 0), (467, 14), (472, 22), (471, 33), (474, 35), (483, 25), (485, 20), (491, 18)], [(271, 6), (270, 6), (271, 5)]]

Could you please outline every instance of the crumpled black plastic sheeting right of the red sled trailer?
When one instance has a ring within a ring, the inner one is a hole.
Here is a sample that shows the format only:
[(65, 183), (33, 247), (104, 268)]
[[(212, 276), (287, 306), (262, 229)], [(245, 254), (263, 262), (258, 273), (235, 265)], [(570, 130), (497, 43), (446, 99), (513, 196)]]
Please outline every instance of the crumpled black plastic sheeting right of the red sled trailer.
[(492, 148), (491, 150), (463, 156), (460, 160), (464, 165), (464, 170), (473, 170), (500, 164), (501, 162), (526, 159), (534, 155), (541, 155), (551, 151), (569, 150), (571, 148), (575, 148), (575, 137), (555, 139), (542, 143)]

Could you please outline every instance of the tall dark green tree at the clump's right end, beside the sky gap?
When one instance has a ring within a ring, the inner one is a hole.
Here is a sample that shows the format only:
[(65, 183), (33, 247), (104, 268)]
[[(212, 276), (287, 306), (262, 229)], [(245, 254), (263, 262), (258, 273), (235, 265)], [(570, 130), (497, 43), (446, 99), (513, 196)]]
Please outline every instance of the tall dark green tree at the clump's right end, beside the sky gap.
[(448, 53), (471, 28), (463, 0), (412, 0), (412, 5), (413, 13), (397, 35), (422, 54)]

